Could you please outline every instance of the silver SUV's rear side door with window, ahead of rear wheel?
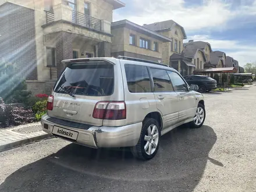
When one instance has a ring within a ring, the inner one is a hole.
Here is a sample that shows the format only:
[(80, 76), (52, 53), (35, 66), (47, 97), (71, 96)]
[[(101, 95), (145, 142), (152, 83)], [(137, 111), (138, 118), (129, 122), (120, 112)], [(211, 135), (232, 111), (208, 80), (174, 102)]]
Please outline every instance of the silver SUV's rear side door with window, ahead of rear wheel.
[(179, 118), (178, 97), (166, 70), (150, 69), (154, 81), (154, 95), (157, 108), (163, 116), (163, 130), (175, 125)]

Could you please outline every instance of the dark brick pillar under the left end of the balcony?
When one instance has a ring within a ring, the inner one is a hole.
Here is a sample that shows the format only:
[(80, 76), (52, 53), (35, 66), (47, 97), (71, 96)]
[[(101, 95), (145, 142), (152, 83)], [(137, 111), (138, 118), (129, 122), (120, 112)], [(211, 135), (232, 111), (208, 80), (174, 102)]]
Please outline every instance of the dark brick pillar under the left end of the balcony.
[(73, 59), (72, 34), (61, 31), (56, 34), (56, 62), (57, 74), (61, 74), (64, 65), (62, 61)]

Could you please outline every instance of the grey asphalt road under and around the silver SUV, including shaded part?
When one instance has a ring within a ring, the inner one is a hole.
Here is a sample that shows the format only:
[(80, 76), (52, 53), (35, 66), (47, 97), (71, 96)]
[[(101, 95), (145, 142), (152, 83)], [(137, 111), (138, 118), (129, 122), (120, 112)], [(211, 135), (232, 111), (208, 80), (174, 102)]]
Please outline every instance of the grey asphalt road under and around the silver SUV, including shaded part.
[(54, 138), (0, 154), (0, 191), (256, 191), (256, 87), (205, 95), (201, 129), (162, 137), (158, 155)]

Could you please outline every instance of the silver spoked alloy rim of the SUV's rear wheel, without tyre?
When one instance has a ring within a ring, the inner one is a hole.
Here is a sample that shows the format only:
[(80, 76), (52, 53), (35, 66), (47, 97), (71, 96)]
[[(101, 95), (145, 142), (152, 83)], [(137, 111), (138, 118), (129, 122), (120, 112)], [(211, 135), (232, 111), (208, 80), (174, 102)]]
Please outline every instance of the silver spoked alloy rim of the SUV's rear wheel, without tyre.
[(150, 125), (144, 137), (144, 150), (147, 155), (152, 155), (158, 146), (159, 132), (156, 125)]

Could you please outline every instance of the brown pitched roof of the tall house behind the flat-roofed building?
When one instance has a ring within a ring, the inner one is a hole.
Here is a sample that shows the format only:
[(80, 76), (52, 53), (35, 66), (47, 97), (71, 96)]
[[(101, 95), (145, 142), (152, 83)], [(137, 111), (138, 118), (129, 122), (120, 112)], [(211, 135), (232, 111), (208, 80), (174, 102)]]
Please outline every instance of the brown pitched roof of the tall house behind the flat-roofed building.
[(182, 26), (176, 23), (174, 20), (166, 20), (163, 22), (151, 23), (151, 24), (144, 24), (143, 27), (151, 30), (151, 31), (165, 31), (165, 30), (172, 30), (172, 27), (175, 25), (179, 26), (182, 29), (182, 33), (184, 39), (187, 38), (187, 34)]

